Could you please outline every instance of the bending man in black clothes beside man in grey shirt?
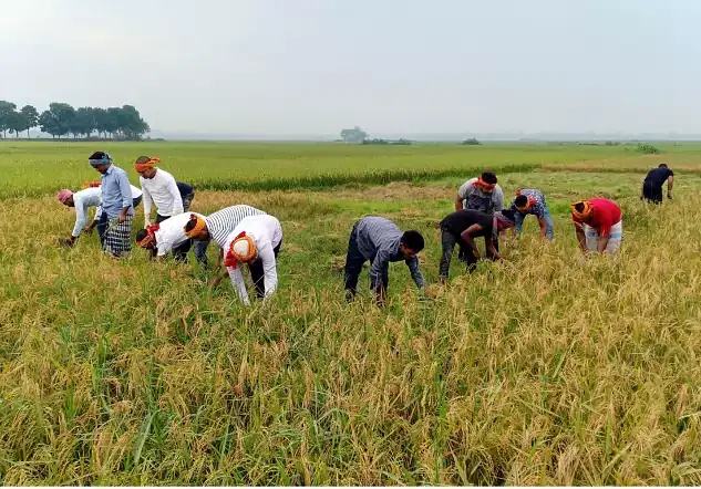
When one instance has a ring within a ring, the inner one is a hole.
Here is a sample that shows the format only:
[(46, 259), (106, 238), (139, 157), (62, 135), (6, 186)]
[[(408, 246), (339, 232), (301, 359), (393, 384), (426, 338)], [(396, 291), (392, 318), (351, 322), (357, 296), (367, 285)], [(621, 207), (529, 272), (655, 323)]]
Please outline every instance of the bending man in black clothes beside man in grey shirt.
[(480, 260), (480, 250), (475, 243), (475, 238), (484, 237), (486, 257), (488, 259), (501, 260), (502, 256), (495, 249), (494, 241), (498, 232), (514, 227), (514, 215), (515, 211), (512, 209), (494, 214), (461, 209), (445, 216), (441, 221), (441, 243), (443, 248), (439, 269), (441, 282), (447, 280), (455, 245), (458, 245), (461, 250), (463, 250), (467, 271), (473, 271), (477, 260)]

